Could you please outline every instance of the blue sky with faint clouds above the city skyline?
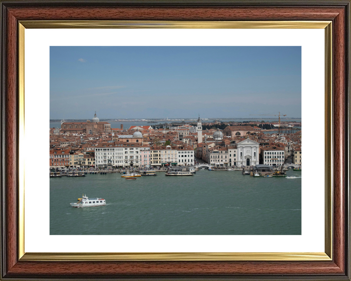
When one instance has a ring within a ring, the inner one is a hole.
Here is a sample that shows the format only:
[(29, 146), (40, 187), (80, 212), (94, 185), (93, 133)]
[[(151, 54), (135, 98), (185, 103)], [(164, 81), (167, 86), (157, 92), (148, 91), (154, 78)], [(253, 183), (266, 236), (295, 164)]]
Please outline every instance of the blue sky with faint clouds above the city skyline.
[(50, 47), (50, 119), (301, 117), (301, 47)]

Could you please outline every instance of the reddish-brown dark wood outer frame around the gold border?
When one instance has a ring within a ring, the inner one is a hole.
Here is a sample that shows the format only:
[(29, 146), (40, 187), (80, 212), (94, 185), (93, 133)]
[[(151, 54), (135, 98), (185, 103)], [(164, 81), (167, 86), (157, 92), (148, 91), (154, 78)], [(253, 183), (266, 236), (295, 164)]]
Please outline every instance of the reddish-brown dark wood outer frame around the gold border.
[[(0, 5), (1, 279), (350, 280), (350, 0), (2, 0)], [(19, 20), (332, 20), (332, 261), (19, 261)]]

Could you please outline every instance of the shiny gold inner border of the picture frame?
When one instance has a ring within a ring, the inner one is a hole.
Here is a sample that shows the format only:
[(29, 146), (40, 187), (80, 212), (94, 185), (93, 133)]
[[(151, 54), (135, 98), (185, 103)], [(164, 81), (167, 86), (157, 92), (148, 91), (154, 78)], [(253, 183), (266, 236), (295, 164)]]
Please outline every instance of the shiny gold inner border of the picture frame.
[[(24, 34), (26, 28), (240, 28), (325, 30), (325, 252), (321, 253), (26, 253), (24, 251), (25, 162), (23, 138)], [(332, 260), (332, 22), (331, 21), (108, 21), (22, 20), (19, 50), (19, 260), (20, 261), (331, 261)], [(22, 140), (22, 141), (21, 141)]]

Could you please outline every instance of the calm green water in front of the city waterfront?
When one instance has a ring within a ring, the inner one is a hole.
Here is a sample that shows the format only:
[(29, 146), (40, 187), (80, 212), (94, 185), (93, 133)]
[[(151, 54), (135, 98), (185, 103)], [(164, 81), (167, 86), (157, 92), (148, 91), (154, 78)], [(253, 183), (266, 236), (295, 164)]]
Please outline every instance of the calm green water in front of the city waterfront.
[[(301, 177), (289, 170), (288, 176)], [(73, 208), (82, 193), (106, 206)], [(301, 178), (200, 170), (191, 177), (120, 174), (50, 179), (51, 235), (300, 235)]]

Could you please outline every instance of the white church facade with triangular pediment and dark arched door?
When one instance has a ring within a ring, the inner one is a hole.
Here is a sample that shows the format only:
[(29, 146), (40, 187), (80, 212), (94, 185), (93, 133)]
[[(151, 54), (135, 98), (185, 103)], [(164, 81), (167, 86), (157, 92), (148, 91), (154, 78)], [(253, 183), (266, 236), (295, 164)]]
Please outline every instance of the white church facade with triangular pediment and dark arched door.
[(237, 166), (256, 166), (259, 164), (259, 143), (250, 139), (239, 141), (237, 147)]

